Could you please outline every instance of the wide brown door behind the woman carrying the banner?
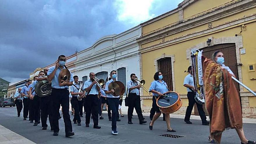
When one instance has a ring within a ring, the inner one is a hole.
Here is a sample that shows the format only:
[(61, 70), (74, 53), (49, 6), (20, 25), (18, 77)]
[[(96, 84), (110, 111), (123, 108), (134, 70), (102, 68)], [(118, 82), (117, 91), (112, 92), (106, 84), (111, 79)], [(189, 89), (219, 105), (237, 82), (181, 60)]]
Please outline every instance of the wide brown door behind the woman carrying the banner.
[[(232, 72), (234, 73), (234, 75), (237, 77), (238, 79), (238, 70), (237, 70), (237, 54), (236, 54), (236, 46), (235, 44), (221, 44), (221, 45), (215, 45), (213, 47), (206, 47), (201, 49), (203, 50), (203, 55), (207, 58), (211, 58), (211, 55), (215, 52), (215, 51), (221, 51), (224, 55), (224, 65), (228, 66), (230, 68), (230, 70), (232, 70)], [(236, 88), (237, 88), (237, 92), (239, 93), (239, 84), (238, 83), (234, 83)], [(241, 102), (241, 97), (240, 97), (240, 102)], [(205, 106), (203, 106), (204, 110), (205, 110)], [(195, 115), (199, 115), (198, 114), (198, 110), (196, 108), (194, 108), (194, 113)], [(207, 110), (205, 110), (205, 113), (208, 114)]]

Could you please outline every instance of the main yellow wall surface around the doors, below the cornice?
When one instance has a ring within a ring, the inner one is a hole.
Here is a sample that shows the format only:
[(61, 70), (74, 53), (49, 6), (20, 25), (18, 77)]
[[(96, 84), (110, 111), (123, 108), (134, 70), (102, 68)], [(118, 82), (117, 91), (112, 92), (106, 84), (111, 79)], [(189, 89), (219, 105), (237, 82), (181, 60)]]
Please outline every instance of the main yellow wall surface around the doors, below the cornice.
[[(243, 31), (243, 46), (246, 48), (246, 54), (241, 55), (242, 66), (242, 78), (243, 83), (249, 86), (252, 90), (256, 90), (256, 80), (248, 79), (248, 68), (247, 64), (256, 63), (256, 47), (253, 41), (255, 41), (256, 33), (256, 22), (252, 22), (250, 24), (246, 24), (247, 30)], [(237, 26), (232, 29), (228, 29), (225, 31), (221, 31), (218, 33), (213, 33), (211, 35), (205, 35), (200, 38), (195, 38), (192, 40), (188, 40), (182, 43), (177, 43), (174, 45), (170, 45), (167, 47), (163, 47), (161, 49), (149, 51), (146, 53), (142, 53), (142, 74), (143, 79), (147, 81), (145, 83), (145, 87), (149, 88), (151, 81), (153, 81), (153, 75), (155, 73), (154, 69), (154, 59), (161, 56), (163, 53), (166, 55), (175, 55), (174, 62), (174, 76), (175, 76), (175, 89), (180, 94), (186, 94), (186, 88), (183, 86), (184, 77), (187, 73), (184, 73), (184, 70), (187, 70), (189, 66), (189, 60), (186, 59), (186, 49), (192, 47), (201, 42), (205, 42), (208, 37), (213, 36), (214, 38), (222, 38), (222, 37), (233, 37), (236, 33), (239, 33), (240, 27)]]

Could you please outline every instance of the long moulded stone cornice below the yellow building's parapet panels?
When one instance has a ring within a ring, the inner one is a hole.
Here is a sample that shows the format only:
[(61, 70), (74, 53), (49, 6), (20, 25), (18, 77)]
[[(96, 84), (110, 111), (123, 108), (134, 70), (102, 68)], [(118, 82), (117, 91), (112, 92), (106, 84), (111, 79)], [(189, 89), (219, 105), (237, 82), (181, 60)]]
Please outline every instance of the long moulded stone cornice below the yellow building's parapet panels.
[(216, 21), (218, 19), (222, 19), (224, 17), (228, 17), (230, 15), (234, 15), (236, 13), (239, 13), (254, 7), (256, 7), (255, 0), (236, 1), (233, 3), (227, 4), (226, 6), (211, 10), (208, 13), (198, 15), (197, 17), (194, 17), (191, 19), (186, 19), (182, 22), (176, 22), (171, 26), (166, 26), (161, 30), (156, 30), (153, 33), (141, 36), (140, 38), (137, 38), (137, 42), (139, 45), (142, 45), (142, 44), (152, 42), (169, 35), (173, 35), (176, 33), (180, 33), (182, 31), (186, 31), (186, 30), (201, 26), (203, 24), (207, 24), (209, 22)]

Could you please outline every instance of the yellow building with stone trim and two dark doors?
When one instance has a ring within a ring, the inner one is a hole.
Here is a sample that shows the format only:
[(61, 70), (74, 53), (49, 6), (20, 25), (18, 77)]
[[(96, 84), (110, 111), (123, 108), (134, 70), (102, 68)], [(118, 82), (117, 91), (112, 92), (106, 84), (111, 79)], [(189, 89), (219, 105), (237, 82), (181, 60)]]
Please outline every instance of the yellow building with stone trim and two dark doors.
[[(256, 90), (256, 1), (255, 0), (184, 0), (174, 10), (141, 24), (141, 79), (149, 88), (153, 75), (161, 71), (168, 87), (180, 94), (183, 105), (176, 113), (184, 114), (188, 99), (183, 86), (184, 71), (191, 65), (192, 49), (202, 49), (209, 57), (224, 53), (239, 81)], [(211, 42), (207, 40), (211, 40)], [(256, 118), (256, 97), (237, 84), (244, 118)], [(152, 96), (143, 93), (142, 109), (149, 111)], [(196, 113), (196, 112), (195, 112)]]

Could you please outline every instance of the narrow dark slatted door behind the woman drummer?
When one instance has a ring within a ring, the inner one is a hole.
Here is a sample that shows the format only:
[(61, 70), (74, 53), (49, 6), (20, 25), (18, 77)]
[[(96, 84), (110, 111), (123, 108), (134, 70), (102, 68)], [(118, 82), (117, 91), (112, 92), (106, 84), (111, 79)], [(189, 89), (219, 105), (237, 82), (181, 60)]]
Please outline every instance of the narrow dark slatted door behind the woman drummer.
[(158, 62), (158, 70), (163, 74), (163, 81), (166, 82), (169, 90), (173, 91), (172, 59), (161, 58)]

